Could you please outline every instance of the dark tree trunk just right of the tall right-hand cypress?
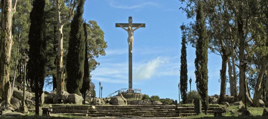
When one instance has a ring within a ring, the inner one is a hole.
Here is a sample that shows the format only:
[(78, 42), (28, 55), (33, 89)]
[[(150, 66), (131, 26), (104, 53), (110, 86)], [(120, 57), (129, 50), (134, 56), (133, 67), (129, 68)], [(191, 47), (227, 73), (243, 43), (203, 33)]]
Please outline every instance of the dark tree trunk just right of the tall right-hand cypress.
[[(225, 52), (224, 52), (225, 54)], [(221, 63), (221, 92), (219, 95), (219, 104), (221, 102), (225, 102), (226, 100), (226, 66), (227, 66), (228, 56), (222, 56), (222, 63)]]

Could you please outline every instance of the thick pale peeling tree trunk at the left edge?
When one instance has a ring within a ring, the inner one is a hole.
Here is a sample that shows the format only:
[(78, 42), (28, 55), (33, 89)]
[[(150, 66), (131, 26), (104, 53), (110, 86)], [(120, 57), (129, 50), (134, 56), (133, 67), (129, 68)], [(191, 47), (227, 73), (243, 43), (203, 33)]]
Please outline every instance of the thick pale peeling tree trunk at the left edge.
[(9, 82), (10, 55), (12, 41), (12, 17), (16, 11), (17, 0), (12, 5), (12, 0), (2, 0), (2, 29), (0, 40), (0, 97), (4, 105), (10, 105), (11, 86)]

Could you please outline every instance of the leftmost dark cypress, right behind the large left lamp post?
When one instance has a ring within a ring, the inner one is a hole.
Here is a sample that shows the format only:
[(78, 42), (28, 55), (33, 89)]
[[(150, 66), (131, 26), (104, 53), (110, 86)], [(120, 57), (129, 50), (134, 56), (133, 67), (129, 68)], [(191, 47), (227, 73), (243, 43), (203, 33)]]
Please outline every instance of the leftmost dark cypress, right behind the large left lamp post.
[(35, 114), (39, 115), (39, 97), (46, 76), (45, 0), (34, 0), (30, 13), (28, 78), (35, 92)]

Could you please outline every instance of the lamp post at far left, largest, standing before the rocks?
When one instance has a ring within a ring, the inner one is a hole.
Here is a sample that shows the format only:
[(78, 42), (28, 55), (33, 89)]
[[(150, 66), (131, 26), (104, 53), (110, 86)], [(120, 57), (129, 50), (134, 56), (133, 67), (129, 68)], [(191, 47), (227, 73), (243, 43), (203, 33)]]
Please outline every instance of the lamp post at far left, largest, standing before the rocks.
[(29, 57), (28, 55), (25, 54), (25, 52), (22, 55), (22, 59), (24, 61), (24, 80), (23, 80), (23, 100), (22, 100), (22, 106), (20, 107), (20, 111), (23, 113), (28, 113), (28, 108), (25, 105), (25, 90), (26, 90), (25, 81), (26, 81), (26, 63), (28, 62)]

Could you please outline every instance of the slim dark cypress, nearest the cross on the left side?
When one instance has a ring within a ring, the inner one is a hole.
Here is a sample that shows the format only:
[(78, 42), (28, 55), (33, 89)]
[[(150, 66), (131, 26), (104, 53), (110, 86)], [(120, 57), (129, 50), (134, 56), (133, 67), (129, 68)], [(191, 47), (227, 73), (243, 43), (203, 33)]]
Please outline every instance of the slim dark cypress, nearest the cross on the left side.
[(84, 33), (85, 33), (85, 61), (84, 61), (84, 78), (83, 78), (83, 85), (82, 88), (80, 90), (80, 92), (83, 94), (84, 96), (84, 104), (85, 104), (85, 93), (87, 92), (87, 90), (90, 89), (90, 71), (89, 71), (89, 64), (88, 64), (88, 56), (87, 56), (87, 52), (88, 52), (88, 42), (87, 42), (87, 23), (84, 22)]

